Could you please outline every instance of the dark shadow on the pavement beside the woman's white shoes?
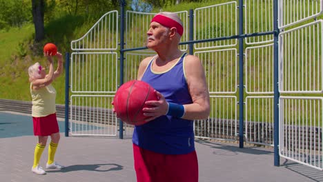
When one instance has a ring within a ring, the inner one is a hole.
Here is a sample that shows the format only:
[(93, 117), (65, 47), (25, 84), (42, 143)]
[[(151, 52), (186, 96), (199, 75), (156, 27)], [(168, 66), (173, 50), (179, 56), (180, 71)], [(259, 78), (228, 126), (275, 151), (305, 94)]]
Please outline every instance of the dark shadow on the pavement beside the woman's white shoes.
[(123, 170), (124, 166), (116, 163), (100, 163), (100, 164), (86, 164), (86, 165), (69, 165), (62, 170), (46, 170), (46, 172), (72, 172), (72, 171), (96, 171), (96, 172), (108, 172)]

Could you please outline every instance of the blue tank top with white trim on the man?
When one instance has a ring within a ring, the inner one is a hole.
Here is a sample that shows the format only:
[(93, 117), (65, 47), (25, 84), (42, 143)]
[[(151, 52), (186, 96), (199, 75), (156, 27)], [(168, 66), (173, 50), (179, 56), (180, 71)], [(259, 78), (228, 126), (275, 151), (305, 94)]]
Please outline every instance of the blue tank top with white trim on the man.
[[(164, 95), (166, 101), (178, 104), (193, 103), (184, 76), (184, 58), (166, 72), (152, 72), (148, 64), (141, 81), (146, 81)], [(161, 116), (144, 125), (135, 126), (133, 143), (161, 154), (188, 154), (195, 150), (193, 121), (171, 116)]]

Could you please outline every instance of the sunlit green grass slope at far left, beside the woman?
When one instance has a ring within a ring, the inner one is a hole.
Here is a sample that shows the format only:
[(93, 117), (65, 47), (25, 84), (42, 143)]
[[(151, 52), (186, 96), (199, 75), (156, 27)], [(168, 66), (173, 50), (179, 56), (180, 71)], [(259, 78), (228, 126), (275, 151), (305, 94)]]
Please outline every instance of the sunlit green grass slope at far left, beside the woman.
[(34, 26), (26, 24), (22, 28), (10, 28), (0, 33), (0, 93), (1, 99), (28, 101), (28, 73), (25, 72), (30, 57), (21, 59), (28, 41), (32, 38)]

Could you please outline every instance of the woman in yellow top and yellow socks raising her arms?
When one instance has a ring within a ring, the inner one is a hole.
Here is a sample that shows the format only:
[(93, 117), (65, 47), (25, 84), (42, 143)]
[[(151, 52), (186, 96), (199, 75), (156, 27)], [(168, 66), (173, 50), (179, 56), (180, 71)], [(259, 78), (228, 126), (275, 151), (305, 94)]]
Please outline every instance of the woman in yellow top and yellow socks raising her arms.
[(46, 74), (45, 68), (39, 63), (30, 65), (28, 68), (30, 93), (32, 96), (32, 121), (34, 125), (34, 135), (38, 136), (38, 143), (35, 147), (34, 165), (32, 172), (35, 174), (46, 174), (39, 166), (41, 154), (46, 147), (48, 136), (50, 136), (50, 145), (48, 147), (48, 161), (46, 169), (62, 169), (63, 165), (59, 165), (54, 161), (55, 152), (59, 143), (59, 126), (56, 117), (56, 90), (51, 83), (63, 70), (63, 59), (61, 53), (57, 52), (58, 59), (57, 70), (54, 71), (52, 55), (44, 52), (44, 56), (49, 61), (49, 71)]

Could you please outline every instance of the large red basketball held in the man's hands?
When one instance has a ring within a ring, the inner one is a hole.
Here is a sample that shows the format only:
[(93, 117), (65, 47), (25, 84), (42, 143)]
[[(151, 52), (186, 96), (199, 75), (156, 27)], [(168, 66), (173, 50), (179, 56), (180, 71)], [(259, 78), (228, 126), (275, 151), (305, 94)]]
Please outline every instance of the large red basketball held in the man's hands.
[(117, 117), (131, 125), (146, 123), (142, 108), (149, 108), (146, 101), (158, 101), (157, 94), (148, 83), (132, 80), (124, 83), (115, 93), (113, 105)]

